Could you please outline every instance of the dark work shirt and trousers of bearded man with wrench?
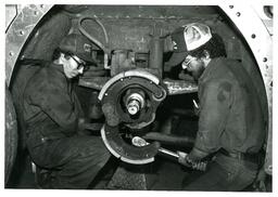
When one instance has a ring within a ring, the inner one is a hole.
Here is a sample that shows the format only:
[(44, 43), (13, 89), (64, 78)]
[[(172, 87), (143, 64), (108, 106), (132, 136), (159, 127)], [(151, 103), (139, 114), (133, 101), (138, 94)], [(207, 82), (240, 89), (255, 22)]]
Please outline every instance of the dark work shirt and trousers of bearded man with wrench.
[(213, 58), (199, 79), (199, 131), (190, 154), (201, 159), (218, 153), (208, 170), (185, 182), (184, 189), (241, 191), (256, 176), (266, 136), (255, 87), (239, 62)]

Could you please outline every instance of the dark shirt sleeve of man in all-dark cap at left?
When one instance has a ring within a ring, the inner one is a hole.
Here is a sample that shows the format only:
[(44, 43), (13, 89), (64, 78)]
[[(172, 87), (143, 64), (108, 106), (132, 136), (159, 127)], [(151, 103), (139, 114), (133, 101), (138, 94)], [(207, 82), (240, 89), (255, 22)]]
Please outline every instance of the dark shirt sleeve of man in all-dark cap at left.
[(54, 122), (62, 132), (72, 134), (78, 126), (78, 109), (72, 101), (71, 92), (66, 84), (58, 83), (41, 84), (39, 91), (33, 95), (33, 103), (38, 105)]

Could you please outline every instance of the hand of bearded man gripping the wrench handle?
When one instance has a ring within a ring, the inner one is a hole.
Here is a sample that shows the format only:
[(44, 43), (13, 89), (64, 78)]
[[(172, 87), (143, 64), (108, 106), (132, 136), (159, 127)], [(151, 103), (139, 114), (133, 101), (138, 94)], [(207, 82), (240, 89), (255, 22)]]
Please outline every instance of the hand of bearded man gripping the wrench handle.
[(207, 166), (207, 162), (205, 161), (193, 161), (190, 159), (190, 156), (186, 153), (182, 153), (182, 152), (177, 152), (177, 154), (179, 155), (179, 158), (178, 158), (178, 162), (188, 167), (188, 168), (191, 168), (193, 170), (200, 170), (200, 171), (205, 171), (206, 170), (206, 166)]

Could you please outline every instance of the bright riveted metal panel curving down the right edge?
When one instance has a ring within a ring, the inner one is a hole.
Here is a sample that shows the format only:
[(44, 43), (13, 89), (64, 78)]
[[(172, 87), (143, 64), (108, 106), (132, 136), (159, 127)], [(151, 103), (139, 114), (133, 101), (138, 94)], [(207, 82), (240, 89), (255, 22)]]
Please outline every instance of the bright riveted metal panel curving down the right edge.
[[(260, 67), (265, 84), (268, 104), (268, 140), (266, 149), (265, 171), (273, 171), (273, 40), (263, 21), (258, 17), (254, 6), (250, 4), (223, 4), (223, 11), (230, 17), (248, 42)], [(263, 5), (262, 5), (263, 8)], [(252, 23), (252, 28), (249, 25)]]

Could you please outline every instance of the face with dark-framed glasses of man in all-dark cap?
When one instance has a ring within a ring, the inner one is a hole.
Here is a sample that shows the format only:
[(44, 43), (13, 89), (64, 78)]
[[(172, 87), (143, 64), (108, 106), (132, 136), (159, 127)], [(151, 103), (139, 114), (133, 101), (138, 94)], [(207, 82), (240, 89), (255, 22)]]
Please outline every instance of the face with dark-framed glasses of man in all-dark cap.
[(83, 60), (78, 58), (76, 55), (68, 55), (64, 61), (64, 74), (68, 79), (72, 79), (79, 74), (83, 74), (84, 66), (81, 64), (84, 63)]

